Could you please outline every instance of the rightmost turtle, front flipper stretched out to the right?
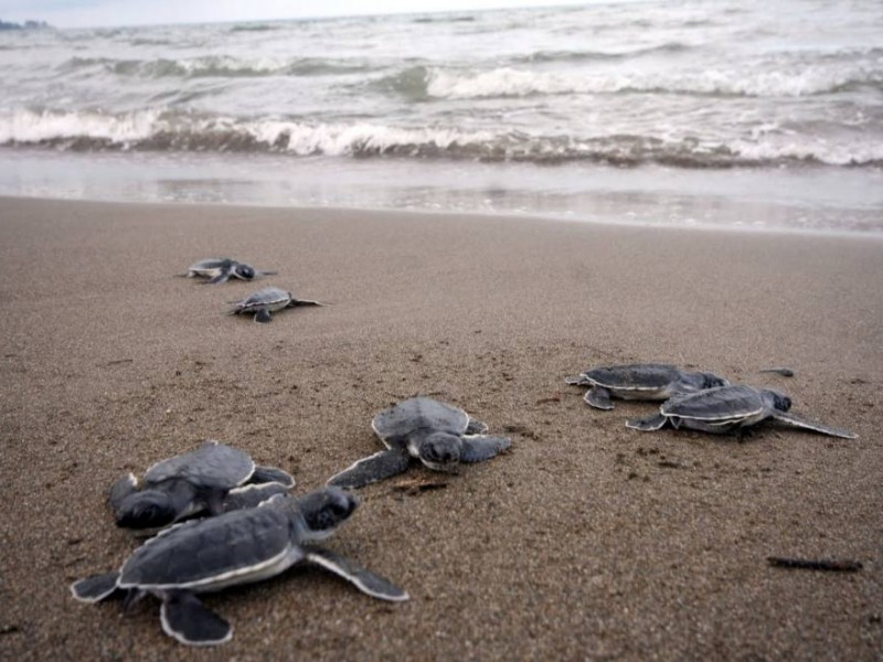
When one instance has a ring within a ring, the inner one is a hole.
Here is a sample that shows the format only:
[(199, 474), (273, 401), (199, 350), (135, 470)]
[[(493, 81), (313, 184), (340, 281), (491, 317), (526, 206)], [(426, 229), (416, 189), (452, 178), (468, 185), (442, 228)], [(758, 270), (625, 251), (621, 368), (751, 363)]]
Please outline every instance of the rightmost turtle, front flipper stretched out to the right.
[(768, 388), (751, 386), (721, 386), (673, 397), (662, 403), (659, 414), (649, 418), (629, 420), (626, 425), (636, 430), (651, 431), (666, 424), (703, 433), (724, 434), (740, 431), (774, 418), (795, 427), (813, 430), (822, 435), (854, 439), (855, 435), (842, 428), (802, 420), (788, 414), (791, 398)]

